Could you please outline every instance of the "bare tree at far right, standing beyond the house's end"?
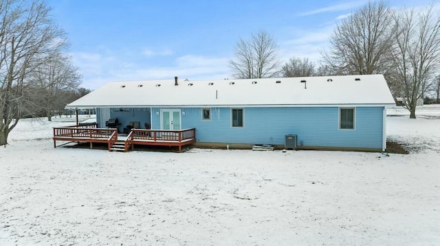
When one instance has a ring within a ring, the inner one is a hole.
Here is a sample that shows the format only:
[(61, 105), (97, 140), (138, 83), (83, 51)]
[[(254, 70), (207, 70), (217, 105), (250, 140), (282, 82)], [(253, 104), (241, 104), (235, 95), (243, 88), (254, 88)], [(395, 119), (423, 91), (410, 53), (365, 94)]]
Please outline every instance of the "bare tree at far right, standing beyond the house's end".
[(426, 11), (402, 10), (394, 16), (396, 82), (400, 84), (410, 119), (415, 119), (417, 99), (423, 98), (440, 66), (440, 18), (433, 5)]

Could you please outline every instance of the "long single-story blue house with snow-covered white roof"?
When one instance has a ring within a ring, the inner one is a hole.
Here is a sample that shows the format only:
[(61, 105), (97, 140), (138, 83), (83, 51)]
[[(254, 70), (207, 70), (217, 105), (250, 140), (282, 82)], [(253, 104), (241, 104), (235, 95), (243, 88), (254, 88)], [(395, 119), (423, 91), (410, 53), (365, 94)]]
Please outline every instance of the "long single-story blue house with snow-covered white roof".
[[(96, 108), (102, 130), (109, 119), (118, 119), (117, 132), (138, 122), (130, 145), (154, 135), (159, 144), (175, 136), (182, 145), (284, 147), (292, 134), (298, 149), (385, 151), (386, 108), (394, 105), (383, 75), (347, 75), (111, 82), (66, 108)], [(179, 132), (188, 130), (188, 138)]]

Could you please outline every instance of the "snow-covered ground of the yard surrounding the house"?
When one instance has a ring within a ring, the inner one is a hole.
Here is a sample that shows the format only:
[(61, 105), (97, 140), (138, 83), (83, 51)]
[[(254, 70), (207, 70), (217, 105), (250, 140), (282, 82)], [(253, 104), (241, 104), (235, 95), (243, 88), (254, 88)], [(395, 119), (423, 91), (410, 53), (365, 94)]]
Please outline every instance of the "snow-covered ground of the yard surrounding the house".
[(388, 116), (415, 146), (389, 156), (54, 149), (69, 119), (22, 120), (0, 148), (0, 245), (439, 245), (440, 108), (418, 114)]

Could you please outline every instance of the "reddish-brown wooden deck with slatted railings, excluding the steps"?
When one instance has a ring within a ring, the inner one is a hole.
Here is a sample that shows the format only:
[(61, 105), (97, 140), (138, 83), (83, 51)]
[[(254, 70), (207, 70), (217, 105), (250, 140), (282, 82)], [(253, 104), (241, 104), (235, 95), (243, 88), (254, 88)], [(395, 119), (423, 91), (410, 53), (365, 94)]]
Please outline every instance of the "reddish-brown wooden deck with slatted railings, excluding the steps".
[[(56, 141), (107, 143), (109, 149), (118, 142), (115, 128), (97, 128), (96, 124), (72, 127), (54, 127), (54, 148)], [(179, 152), (184, 145), (195, 143), (195, 128), (185, 130), (144, 130), (132, 129), (124, 139), (124, 151), (134, 149), (134, 145), (177, 146)]]

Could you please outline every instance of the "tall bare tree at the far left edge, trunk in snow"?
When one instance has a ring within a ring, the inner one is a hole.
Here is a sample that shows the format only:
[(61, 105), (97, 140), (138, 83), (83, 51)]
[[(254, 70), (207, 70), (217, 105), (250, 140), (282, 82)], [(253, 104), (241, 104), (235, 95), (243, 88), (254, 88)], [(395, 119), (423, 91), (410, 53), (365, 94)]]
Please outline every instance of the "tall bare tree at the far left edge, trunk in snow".
[(0, 145), (23, 116), (32, 116), (29, 75), (65, 47), (63, 30), (43, 1), (0, 1)]

